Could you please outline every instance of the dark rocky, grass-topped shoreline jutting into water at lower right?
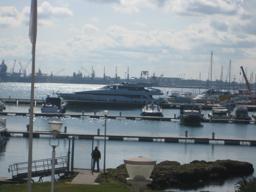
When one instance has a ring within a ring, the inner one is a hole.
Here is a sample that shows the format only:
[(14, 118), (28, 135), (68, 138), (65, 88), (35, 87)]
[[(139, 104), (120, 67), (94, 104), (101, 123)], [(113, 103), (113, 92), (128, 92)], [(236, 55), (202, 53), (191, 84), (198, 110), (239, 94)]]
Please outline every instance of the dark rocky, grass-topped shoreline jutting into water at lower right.
[[(126, 178), (129, 177), (125, 165), (116, 169), (107, 169), (107, 175), (112, 179), (127, 185)], [(169, 187), (194, 182), (209, 182), (217, 179), (227, 179), (234, 176), (250, 175), (254, 171), (253, 165), (248, 162), (233, 160), (217, 161), (192, 161), (181, 165), (177, 161), (163, 161), (155, 165), (150, 178), (153, 182), (148, 185), (152, 190), (164, 190)], [(100, 176), (96, 182), (104, 182)]]

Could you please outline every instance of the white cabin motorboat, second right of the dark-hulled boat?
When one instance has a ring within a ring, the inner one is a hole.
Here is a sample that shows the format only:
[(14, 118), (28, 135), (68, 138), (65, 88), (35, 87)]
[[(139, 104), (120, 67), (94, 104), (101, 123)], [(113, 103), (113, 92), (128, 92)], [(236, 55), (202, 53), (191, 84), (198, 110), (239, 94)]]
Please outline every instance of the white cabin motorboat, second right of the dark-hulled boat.
[(245, 120), (241, 123), (249, 123), (251, 117), (248, 115), (248, 108), (246, 105), (237, 105), (230, 113), (230, 118), (235, 120)]

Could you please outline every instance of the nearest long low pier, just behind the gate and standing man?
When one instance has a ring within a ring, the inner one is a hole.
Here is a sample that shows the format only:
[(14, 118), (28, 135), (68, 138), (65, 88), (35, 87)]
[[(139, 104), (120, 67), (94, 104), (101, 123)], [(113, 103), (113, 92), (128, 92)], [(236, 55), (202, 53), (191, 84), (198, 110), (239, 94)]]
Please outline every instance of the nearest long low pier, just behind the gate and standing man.
[[(8, 130), (8, 132), (13, 134), (22, 134), (23, 137), (28, 137), (28, 131), (15, 131)], [(48, 131), (34, 131), (33, 137), (40, 137), (40, 135), (50, 135)], [(78, 138), (94, 138), (94, 137), (104, 137), (104, 134), (94, 134), (94, 133), (60, 133), (61, 138), (67, 138), (69, 136), (77, 136)], [(137, 138), (138, 141), (151, 141), (154, 139), (156, 141), (164, 142), (176, 142), (180, 140), (194, 140), (194, 143), (206, 143), (209, 141), (224, 141), (224, 144), (240, 145), (240, 142), (250, 143), (250, 145), (256, 145), (256, 139), (245, 139), (245, 138), (223, 138), (223, 137), (185, 137), (185, 136), (167, 136), (167, 135), (132, 135), (132, 134), (106, 134), (109, 140), (123, 140), (124, 138)]]

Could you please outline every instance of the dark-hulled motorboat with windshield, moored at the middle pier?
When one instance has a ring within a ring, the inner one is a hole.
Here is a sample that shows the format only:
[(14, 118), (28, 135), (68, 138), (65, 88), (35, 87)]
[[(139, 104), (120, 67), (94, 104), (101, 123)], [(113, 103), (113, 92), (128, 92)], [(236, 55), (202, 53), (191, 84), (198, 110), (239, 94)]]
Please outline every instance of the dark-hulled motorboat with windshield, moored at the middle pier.
[(178, 119), (187, 125), (200, 125), (202, 121), (201, 108), (198, 105), (181, 105)]

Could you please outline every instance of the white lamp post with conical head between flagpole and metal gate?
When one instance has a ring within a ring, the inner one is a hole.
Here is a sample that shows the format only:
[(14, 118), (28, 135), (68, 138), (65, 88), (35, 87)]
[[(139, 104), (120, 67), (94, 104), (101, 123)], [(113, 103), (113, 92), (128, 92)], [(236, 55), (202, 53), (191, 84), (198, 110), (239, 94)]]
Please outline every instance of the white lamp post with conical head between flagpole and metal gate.
[[(63, 123), (58, 121), (50, 121), (50, 141), (49, 145), (53, 147), (53, 153), (51, 158), (51, 192), (54, 192), (54, 171), (55, 171), (55, 147), (59, 146), (59, 130), (61, 130), (61, 126)], [(53, 136), (53, 139), (55, 140), (58, 136), (58, 145), (51, 145), (51, 135)]]

